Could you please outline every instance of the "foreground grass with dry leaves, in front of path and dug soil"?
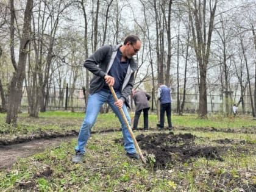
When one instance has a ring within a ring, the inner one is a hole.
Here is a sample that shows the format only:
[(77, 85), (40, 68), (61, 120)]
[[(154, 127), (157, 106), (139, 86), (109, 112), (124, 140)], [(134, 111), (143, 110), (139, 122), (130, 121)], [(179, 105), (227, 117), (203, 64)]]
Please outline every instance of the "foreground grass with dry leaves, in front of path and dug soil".
[[(0, 172), (0, 190), (21, 191), (21, 183), (35, 183), (35, 191), (212, 191), (214, 182), (223, 182), (224, 173), (231, 174), (236, 182), (246, 179), (246, 172), (255, 170), (255, 155), (230, 151), (225, 162), (198, 158), (153, 171), (140, 160), (127, 159), (123, 147), (113, 143), (113, 139), (120, 137), (120, 133), (93, 135), (88, 146), (94, 148), (87, 149), (82, 164), (70, 162), (76, 141), (24, 158)], [(45, 167), (52, 170), (48, 177), (41, 174)]]

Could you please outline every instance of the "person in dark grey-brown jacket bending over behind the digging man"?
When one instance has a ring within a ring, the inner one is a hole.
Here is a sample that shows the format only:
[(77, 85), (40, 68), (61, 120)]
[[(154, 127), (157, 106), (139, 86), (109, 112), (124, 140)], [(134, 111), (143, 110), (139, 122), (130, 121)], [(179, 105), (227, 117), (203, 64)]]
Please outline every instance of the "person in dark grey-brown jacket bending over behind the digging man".
[(149, 129), (149, 99), (151, 96), (145, 91), (133, 90), (133, 101), (135, 103), (135, 118), (133, 121), (133, 132), (137, 131), (138, 120), (140, 118), (140, 114), (143, 111), (143, 119), (144, 119), (144, 131), (148, 131)]

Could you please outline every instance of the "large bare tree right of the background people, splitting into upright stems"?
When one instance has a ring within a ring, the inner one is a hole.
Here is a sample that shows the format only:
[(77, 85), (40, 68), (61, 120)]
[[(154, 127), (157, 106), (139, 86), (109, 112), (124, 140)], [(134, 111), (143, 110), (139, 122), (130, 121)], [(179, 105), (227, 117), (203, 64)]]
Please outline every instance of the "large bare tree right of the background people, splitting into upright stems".
[[(207, 1), (187, 0), (188, 14), (190, 18), (193, 46), (196, 52), (197, 62), (199, 64), (199, 112), (201, 118), (207, 116), (207, 65), (210, 55), (210, 46), (212, 42), (212, 33), (215, 20), (215, 11), (218, 0), (208, 1), (209, 10), (206, 9)], [(192, 3), (192, 5), (191, 5)], [(207, 31), (207, 16), (210, 13)]]

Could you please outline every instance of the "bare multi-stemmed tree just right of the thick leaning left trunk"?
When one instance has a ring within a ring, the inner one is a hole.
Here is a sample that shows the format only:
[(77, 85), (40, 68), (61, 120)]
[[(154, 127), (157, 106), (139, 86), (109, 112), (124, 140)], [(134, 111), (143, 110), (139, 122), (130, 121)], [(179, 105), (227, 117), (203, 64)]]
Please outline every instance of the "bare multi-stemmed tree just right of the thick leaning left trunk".
[(32, 76), (28, 83), (27, 93), (29, 95), (30, 116), (38, 116), (38, 111), (46, 111), (49, 102), (49, 88), (51, 85), (53, 62), (57, 57), (54, 54), (57, 30), (60, 21), (65, 16), (65, 10), (71, 5), (72, 1), (40, 1), (37, 4), (37, 12), (34, 13), (33, 48), (35, 52), (35, 65), (31, 69)]

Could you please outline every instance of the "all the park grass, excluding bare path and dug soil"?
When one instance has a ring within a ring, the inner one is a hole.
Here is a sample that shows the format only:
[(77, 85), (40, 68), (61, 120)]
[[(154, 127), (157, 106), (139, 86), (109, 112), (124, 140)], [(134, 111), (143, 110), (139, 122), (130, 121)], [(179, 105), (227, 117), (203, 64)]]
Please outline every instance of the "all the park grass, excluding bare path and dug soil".
[[(78, 131), (83, 119), (84, 113), (46, 112), (40, 113), (39, 118), (29, 118), (26, 113), (22, 113), (19, 114), (18, 126), (13, 127), (4, 124), (5, 114), (0, 114), (0, 130), (11, 130), (10, 133), (1, 134), (1, 137), (22, 137), (23, 134), (28, 135), (27, 132), (35, 133), (38, 130)], [(156, 124), (157, 116), (149, 115), (149, 126), (155, 127)], [(232, 188), (232, 183), (240, 182), (240, 188), (246, 183), (256, 186), (256, 134), (201, 132), (196, 129), (254, 129), (256, 122), (251, 117), (210, 116), (208, 119), (199, 119), (195, 115), (173, 115), (172, 124), (177, 127), (174, 134), (195, 135), (195, 144), (198, 146), (227, 148), (227, 152), (222, 155), (224, 161), (193, 158), (188, 162), (178, 160), (176, 164), (163, 170), (154, 170), (150, 163), (143, 165), (140, 160), (130, 160), (126, 157), (122, 144), (113, 141), (122, 138), (121, 132), (95, 133), (88, 140), (83, 163), (74, 164), (70, 161), (77, 140), (62, 143), (32, 157), (21, 158), (11, 168), (0, 171), (0, 191), (239, 191), (239, 188)], [(143, 126), (142, 116), (139, 126)], [(118, 119), (113, 113), (99, 114), (93, 130), (113, 127), (119, 128)], [(184, 130), (182, 127), (191, 129)], [(151, 133), (158, 132), (150, 130), (144, 134)], [(141, 132), (135, 132), (135, 135), (140, 134)], [(215, 142), (226, 138), (234, 142)], [(238, 152), (240, 148), (244, 151)], [(47, 168), (52, 173), (44, 176)]]

